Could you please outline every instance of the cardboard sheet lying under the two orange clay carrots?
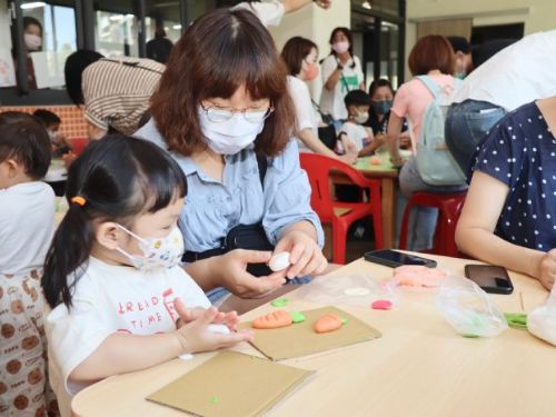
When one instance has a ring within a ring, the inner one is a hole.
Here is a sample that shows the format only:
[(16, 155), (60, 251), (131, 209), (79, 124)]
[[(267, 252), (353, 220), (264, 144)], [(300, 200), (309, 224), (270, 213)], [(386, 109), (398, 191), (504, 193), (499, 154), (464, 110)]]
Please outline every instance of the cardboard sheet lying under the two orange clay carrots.
[[(290, 311), (289, 308), (286, 309)], [(306, 318), (304, 322), (278, 329), (252, 329), (255, 330), (252, 346), (268, 358), (280, 360), (349, 346), (383, 336), (377, 329), (336, 307), (329, 306), (301, 312)], [(327, 312), (346, 318), (347, 324), (336, 331), (315, 332), (315, 322)], [(241, 324), (240, 327), (251, 328), (251, 322)]]

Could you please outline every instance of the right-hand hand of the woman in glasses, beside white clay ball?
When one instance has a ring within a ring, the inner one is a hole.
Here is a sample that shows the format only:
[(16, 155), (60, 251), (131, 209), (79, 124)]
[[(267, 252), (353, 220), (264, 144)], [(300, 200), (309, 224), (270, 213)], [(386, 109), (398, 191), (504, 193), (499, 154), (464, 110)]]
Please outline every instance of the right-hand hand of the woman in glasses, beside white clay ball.
[(314, 238), (302, 230), (290, 230), (276, 245), (275, 254), (289, 252), (291, 266), (286, 277), (304, 277), (321, 274), (328, 261)]

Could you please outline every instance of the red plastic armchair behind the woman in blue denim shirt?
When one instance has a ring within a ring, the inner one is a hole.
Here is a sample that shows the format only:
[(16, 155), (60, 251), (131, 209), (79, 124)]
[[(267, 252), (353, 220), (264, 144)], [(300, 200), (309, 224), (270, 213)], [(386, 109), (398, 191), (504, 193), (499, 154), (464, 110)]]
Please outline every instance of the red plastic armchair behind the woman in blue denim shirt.
[[(346, 238), (349, 226), (365, 216), (373, 217), (375, 241), (381, 249), (383, 224), (380, 210), (380, 182), (365, 178), (357, 169), (337, 159), (317, 153), (300, 153), (301, 168), (307, 171), (311, 185), (311, 207), (320, 221), (332, 225), (332, 259), (335, 264), (346, 262)], [(339, 171), (354, 185), (369, 190), (369, 201), (341, 202), (332, 198), (330, 171)]]

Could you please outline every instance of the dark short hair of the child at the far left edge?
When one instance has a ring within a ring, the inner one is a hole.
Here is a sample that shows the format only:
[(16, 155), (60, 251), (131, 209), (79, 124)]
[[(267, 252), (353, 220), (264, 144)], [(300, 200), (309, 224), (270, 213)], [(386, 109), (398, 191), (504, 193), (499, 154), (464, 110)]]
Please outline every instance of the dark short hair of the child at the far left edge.
[(47, 130), (33, 116), (20, 111), (0, 113), (0, 162), (14, 159), (26, 175), (38, 180), (47, 175), (52, 147)]

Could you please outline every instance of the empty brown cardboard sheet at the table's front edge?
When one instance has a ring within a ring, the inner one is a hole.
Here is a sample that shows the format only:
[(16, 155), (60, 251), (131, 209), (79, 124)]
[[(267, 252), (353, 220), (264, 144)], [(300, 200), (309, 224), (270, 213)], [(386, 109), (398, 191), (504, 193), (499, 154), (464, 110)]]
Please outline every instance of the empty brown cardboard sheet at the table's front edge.
[(260, 416), (312, 374), (222, 351), (147, 397), (196, 416)]

